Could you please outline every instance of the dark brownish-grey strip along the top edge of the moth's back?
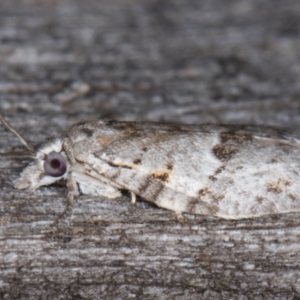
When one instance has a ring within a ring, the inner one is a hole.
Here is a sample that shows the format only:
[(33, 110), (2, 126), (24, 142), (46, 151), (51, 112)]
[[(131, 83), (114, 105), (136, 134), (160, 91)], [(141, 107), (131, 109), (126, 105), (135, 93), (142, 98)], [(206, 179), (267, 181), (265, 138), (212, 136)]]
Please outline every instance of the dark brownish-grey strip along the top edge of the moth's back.
[[(90, 140), (91, 147), (87, 148), (88, 153), (103, 150), (103, 145), (94, 142), (97, 136), (107, 136), (113, 142), (126, 142), (130, 140), (149, 140), (154, 143), (161, 136), (183, 135), (215, 135), (222, 134), (235, 139), (252, 137), (254, 139), (268, 140), (273, 143), (292, 143), (299, 145), (300, 131), (290, 129), (278, 129), (273, 127), (257, 127), (249, 125), (180, 125), (180, 124), (159, 124), (159, 123), (136, 123), (122, 121), (89, 121), (73, 125), (66, 136), (72, 140)], [(157, 137), (156, 137), (157, 135)]]

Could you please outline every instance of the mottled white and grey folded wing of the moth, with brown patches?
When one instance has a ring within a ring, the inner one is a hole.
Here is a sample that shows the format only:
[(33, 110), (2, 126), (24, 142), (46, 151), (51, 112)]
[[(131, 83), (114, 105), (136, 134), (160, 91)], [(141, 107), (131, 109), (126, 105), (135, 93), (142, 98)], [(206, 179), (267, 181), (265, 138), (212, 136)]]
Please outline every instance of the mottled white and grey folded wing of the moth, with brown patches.
[(170, 210), (233, 219), (300, 210), (299, 143), (284, 132), (110, 122), (89, 141), (88, 151), (74, 143), (76, 159)]

